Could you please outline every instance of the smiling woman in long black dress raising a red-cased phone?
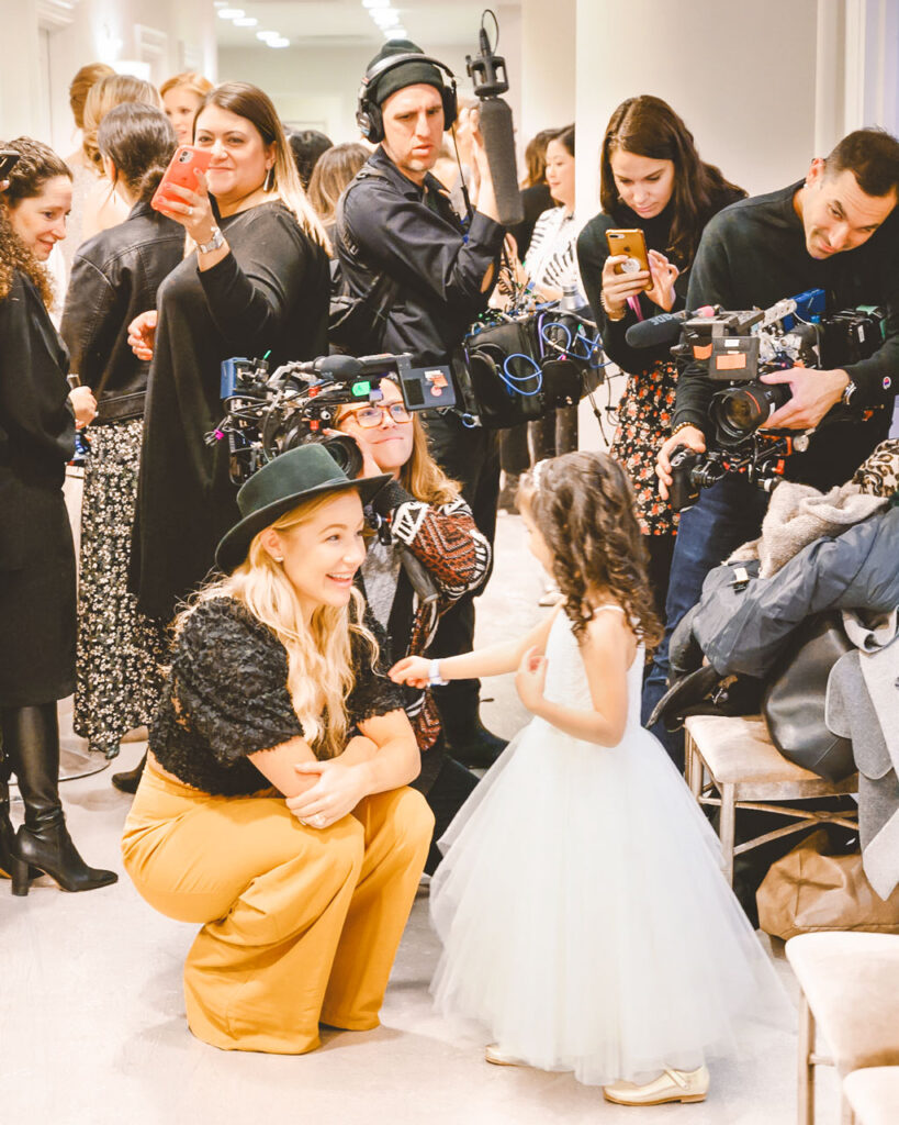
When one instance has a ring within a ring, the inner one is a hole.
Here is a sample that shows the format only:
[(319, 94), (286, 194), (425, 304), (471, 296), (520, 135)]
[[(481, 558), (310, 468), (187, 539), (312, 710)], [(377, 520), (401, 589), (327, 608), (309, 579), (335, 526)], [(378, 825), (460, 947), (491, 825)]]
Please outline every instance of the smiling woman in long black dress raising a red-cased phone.
[(238, 514), (228, 443), (206, 442), (223, 415), (221, 361), (267, 356), (274, 369), (327, 351), (327, 237), (271, 101), (245, 82), (216, 87), (193, 141), (211, 151), (209, 171), (163, 209), (191, 251), (130, 328), (151, 360), (131, 582), (138, 609), (163, 621)]

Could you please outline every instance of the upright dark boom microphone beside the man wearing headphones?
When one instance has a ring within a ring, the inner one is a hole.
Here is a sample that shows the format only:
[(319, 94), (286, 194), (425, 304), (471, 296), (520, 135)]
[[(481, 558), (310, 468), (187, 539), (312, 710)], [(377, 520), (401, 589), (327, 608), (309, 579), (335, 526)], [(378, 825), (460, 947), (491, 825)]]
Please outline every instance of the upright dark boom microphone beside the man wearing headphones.
[[(492, 12), (490, 15), (493, 16)], [(493, 21), (496, 22), (496, 16)], [(467, 55), (465, 64), (469, 76), (474, 82), (474, 93), (481, 101), (480, 129), (484, 138), (490, 179), (493, 181), (499, 220), (503, 226), (515, 226), (524, 222), (525, 208), (518, 188), (512, 111), (499, 97), (509, 89), (506, 60), (493, 54), (483, 24), (479, 40), (481, 50), (478, 57), (472, 58)], [(499, 42), (499, 25), (497, 25), (497, 42)]]

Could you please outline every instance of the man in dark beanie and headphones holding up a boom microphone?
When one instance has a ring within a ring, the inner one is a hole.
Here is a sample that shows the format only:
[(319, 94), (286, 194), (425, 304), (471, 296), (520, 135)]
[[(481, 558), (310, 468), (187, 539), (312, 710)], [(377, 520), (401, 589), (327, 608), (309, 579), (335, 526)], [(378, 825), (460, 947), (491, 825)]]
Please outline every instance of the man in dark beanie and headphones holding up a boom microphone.
[[(480, 190), (466, 230), (430, 174), (444, 129), (455, 118), (455, 86), (444, 82), (446, 68), (416, 55), (421, 50), (415, 44), (391, 40), (369, 64), (357, 119), (366, 138), (380, 144), (344, 195), (335, 249), (353, 296), (364, 297), (382, 274), (394, 286), (376, 350), (443, 364), (487, 307), (503, 228), (476, 128), (472, 154)], [(367, 346), (360, 342), (356, 353)], [(429, 412), (426, 424), (435, 459), (461, 483), (479, 529), (492, 543), (499, 494), (496, 432), (466, 428), (450, 413)], [(442, 620), (435, 656), (471, 648), (472, 596), (466, 594)], [(448, 691), (452, 696), (442, 694), (438, 702), (451, 753), (469, 765), (489, 764), (503, 744), (481, 726), (478, 682), (460, 681)]]

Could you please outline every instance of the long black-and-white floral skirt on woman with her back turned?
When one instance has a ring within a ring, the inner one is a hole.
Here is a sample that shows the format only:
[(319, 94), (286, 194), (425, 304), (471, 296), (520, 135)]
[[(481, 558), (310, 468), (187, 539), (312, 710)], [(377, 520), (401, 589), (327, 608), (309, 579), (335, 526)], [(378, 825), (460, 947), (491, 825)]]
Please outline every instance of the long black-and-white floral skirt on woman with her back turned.
[(128, 592), (143, 430), (140, 420), (90, 430), (84, 472), (74, 729), (110, 758), (149, 722), (169, 650), (165, 629)]

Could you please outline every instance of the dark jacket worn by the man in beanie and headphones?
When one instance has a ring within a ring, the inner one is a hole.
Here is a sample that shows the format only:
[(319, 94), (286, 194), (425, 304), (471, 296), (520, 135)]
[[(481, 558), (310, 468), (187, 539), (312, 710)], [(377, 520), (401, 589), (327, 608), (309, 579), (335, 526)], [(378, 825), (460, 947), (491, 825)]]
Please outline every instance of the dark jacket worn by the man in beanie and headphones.
[(364, 296), (372, 271), (399, 285), (382, 341), (421, 363), (446, 363), (469, 325), (487, 308), (484, 274), (497, 262), (505, 231), (475, 212), (467, 234), (438, 180), (412, 183), (379, 146), (367, 165), (380, 173), (348, 189), (346, 236), (335, 251), (351, 295)]

